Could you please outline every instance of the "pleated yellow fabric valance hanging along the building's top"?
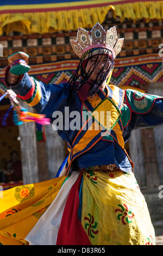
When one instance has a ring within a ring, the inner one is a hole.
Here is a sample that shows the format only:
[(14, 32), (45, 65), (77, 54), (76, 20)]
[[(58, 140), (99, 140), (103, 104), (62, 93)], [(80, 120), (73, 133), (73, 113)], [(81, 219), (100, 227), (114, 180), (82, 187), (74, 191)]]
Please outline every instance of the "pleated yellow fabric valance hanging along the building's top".
[[(118, 3), (118, 4), (117, 4)], [(163, 19), (163, 1), (79, 1), (60, 4), (0, 6), (0, 35), (12, 31), (23, 34), (76, 31), (78, 27), (93, 27), (103, 23), (109, 10), (121, 21), (131, 19)]]

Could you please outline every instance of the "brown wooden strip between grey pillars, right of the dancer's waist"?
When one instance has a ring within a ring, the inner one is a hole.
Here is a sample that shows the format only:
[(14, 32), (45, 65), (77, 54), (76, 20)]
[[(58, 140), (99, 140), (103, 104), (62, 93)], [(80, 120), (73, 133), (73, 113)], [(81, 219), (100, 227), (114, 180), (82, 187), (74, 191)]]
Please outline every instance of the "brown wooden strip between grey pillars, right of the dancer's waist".
[(160, 180), (156, 157), (154, 129), (142, 129), (142, 142), (145, 157), (147, 187), (149, 189), (158, 189)]

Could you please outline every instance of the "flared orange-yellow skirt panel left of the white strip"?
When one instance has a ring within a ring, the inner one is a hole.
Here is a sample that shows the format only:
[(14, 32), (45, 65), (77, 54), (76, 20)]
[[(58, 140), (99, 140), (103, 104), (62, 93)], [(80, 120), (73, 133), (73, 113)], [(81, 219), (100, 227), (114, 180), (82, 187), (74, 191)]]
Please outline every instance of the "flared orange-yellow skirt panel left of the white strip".
[(28, 245), (24, 238), (48, 209), (65, 181), (59, 178), (10, 188), (0, 198), (0, 242)]

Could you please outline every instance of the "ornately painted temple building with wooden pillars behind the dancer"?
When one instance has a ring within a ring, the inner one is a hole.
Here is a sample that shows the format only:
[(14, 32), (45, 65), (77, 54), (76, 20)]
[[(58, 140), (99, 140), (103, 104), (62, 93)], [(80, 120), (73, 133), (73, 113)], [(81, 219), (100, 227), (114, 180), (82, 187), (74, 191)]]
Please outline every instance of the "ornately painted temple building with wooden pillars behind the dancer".
[[(118, 38), (124, 38), (110, 84), (163, 96), (163, 1), (5, 2), (7, 5), (0, 3), (0, 68), (8, 65), (8, 56), (22, 51), (29, 55), (30, 76), (46, 84), (67, 82), (79, 63), (70, 39), (76, 39), (78, 27), (90, 31), (99, 22), (105, 30), (115, 26)], [(4, 76), (5, 71), (0, 71), (0, 96), (7, 90)], [(21, 105), (33, 112), (24, 102)], [(52, 125), (31, 122), (15, 126), (12, 111), (4, 122), (9, 107), (5, 97), (0, 102), (0, 169), (15, 150), (22, 162), (23, 184), (54, 178), (68, 154), (65, 143)], [(160, 234), (163, 126), (134, 130), (125, 147), (135, 164), (134, 173), (156, 234)], [(16, 185), (1, 184), (4, 188)]]

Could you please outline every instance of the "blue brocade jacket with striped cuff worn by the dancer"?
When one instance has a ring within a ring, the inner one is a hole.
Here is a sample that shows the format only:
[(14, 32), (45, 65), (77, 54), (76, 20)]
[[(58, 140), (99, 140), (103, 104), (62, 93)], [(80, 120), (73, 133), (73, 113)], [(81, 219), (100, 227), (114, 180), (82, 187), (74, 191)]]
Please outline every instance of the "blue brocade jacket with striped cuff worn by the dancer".
[[(103, 97), (101, 98), (102, 101), (105, 97), (108, 97), (112, 103), (115, 103), (115, 107), (120, 112), (115, 131), (112, 129), (110, 133), (105, 133), (105, 136), (98, 138), (96, 143), (95, 141), (92, 142), (91, 147), (88, 145), (87, 149), (81, 149), (80, 154), (76, 154), (76, 157), (71, 162), (70, 170), (115, 164), (123, 172), (130, 172), (133, 169), (133, 164), (124, 149), (124, 143), (128, 141), (131, 131), (163, 123), (162, 97), (143, 94), (131, 89), (122, 90), (117, 88), (109, 85), (109, 94), (106, 93), (105, 95), (101, 90), (98, 95), (98, 97)], [(27, 73), (21, 77), (16, 86), (12, 87), (12, 90), (20, 99), (34, 107), (37, 113), (45, 114), (47, 118), (50, 118), (52, 124), (57, 120), (55, 114), (62, 113), (62, 127), (58, 129), (58, 134), (71, 149), (79, 130), (71, 129), (71, 127), (70, 129), (65, 129), (66, 122), (70, 124), (74, 120), (74, 116), (71, 117), (69, 115), (67, 117), (67, 115), (72, 112), (75, 113), (74, 111), (79, 112), (80, 125), (78, 125), (81, 126), (83, 124), (84, 111), (87, 108), (86, 106), (89, 108), (90, 102), (85, 105), (80, 100), (80, 95), (67, 83), (46, 85), (36, 81)], [(120, 96), (117, 101), (114, 101), (114, 95), (117, 97), (117, 94)], [(92, 106), (90, 105), (90, 111), (93, 109)]]

